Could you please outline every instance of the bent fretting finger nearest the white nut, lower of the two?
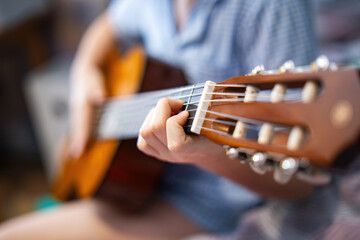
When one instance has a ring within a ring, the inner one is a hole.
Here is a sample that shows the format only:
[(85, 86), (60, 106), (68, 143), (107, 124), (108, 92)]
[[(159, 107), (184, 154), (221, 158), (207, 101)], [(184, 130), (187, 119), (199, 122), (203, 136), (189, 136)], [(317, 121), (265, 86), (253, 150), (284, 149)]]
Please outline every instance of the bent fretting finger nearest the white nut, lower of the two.
[(189, 112), (183, 111), (169, 118), (166, 122), (167, 147), (171, 152), (182, 151), (188, 140), (188, 136), (184, 131), (184, 125), (188, 117)]

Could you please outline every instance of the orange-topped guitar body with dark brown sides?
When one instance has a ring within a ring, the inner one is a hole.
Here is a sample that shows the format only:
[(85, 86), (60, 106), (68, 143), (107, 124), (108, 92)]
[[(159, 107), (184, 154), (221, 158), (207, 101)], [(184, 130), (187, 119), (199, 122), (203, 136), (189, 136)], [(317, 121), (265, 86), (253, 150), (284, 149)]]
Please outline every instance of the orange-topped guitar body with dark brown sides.
[[(104, 63), (109, 97), (186, 85), (183, 72), (146, 58), (141, 48), (120, 58), (111, 52)], [(53, 186), (60, 200), (102, 197), (116, 201), (125, 210), (146, 205), (156, 190), (164, 163), (136, 147), (136, 139), (93, 139), (79, 159), (69, 159), (66, 144), (64, 166)]]

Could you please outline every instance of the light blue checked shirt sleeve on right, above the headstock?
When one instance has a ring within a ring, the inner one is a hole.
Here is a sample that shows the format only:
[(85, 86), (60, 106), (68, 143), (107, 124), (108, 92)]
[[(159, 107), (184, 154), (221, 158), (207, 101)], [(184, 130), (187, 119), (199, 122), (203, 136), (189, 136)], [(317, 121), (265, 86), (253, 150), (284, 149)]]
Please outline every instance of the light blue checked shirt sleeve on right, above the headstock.
[(287, 60), (307, 65), (317, 55), (311, 3), (307, 0), (249, 1), (243, 8), (238, 47), (246, 71)]

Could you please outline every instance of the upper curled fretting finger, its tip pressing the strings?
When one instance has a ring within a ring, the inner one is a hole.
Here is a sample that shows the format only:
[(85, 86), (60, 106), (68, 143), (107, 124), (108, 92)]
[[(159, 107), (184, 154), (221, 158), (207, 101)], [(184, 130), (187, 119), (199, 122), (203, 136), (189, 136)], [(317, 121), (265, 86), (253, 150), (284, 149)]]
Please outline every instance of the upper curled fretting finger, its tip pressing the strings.
[(160, 99), (156, 105), (150, 127), (155, 136), (166, 146), (166, 121), (181, 110), (183, 102), (169, 98)]

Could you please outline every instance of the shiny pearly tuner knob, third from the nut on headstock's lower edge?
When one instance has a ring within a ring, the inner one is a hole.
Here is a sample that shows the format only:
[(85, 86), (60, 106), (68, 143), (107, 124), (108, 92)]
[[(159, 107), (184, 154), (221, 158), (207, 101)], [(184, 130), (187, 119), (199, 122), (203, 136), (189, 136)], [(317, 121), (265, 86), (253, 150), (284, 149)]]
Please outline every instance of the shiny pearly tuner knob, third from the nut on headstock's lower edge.
[(299, 167), (295, 158), (285, 158), (280, 161), (279, 166), (275, 168), (274, 179), (280, 184), (287, 183)]

